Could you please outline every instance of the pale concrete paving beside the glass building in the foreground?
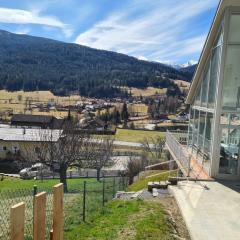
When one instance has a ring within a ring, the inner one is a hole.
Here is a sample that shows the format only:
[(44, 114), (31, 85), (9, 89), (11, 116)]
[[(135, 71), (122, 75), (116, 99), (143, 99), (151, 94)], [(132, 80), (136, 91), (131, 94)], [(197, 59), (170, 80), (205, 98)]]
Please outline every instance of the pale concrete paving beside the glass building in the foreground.
[(236, 186), (233, 190), (218, 182), (183, 181), (169, 187), (192, 240), (240, 239), (240, 188)]

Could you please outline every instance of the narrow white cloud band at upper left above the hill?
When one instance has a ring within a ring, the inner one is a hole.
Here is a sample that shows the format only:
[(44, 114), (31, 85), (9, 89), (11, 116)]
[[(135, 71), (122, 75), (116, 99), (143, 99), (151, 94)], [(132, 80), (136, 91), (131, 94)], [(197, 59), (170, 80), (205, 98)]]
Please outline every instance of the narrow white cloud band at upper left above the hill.
[(72, 35), (72, 29), (69, 25), (63, 23), (55, 16), (41, 15), (40, 11), (22, 10), (0, 7), (0, 22), (14, 24), (39, 24), (59, 28), (66, 37)]

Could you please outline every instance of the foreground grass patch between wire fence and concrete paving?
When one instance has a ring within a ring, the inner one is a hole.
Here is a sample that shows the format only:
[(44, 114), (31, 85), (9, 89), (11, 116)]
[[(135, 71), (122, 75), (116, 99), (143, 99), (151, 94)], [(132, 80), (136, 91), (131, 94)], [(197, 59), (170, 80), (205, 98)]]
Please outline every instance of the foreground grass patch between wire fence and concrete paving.
[(114, 200), (65, 232), (65, 240), (167, 240), (174, 239), (168, 216), (160, 203)]

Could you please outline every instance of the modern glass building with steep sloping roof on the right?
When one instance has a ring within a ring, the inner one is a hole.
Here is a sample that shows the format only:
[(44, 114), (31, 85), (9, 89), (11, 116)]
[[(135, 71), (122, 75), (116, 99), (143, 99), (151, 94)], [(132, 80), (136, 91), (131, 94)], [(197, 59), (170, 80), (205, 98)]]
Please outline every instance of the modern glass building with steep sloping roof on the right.
[(189, 159), (195, 159), (209, 177), (239, 179), (239, 0), (220, 1), (186, 103)]

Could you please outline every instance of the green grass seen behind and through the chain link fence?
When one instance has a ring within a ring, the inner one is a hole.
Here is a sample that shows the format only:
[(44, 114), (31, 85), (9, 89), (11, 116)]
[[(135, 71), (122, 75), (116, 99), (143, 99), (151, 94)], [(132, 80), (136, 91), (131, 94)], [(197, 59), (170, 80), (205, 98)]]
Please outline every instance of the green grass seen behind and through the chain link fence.
[[(64, 230), (71, 231), (82, 222), (83, 213), (83, 181), (86, 181), (86, 219), (91, 214), (100, 209), (104, 202), (112, 199), (114, 193), (123, 190), (124, 184), (120, 178), (107, 178), (104, 184), (96, 179), (69, 179), (68, 193), (64, 194)], [(33, 185), (37, 185), (38, 192), (47, 192), (47, 238), (52, 227), (52, 187), (59, 183), (59, 180), (20, 180), (15, 178), (5, 178), (0, 181), (0, 240), (9, 236), (9, 208), (19, 202), (25, 202), (25, 233), (26, 239), (32, 239), (32, 219), (33, 219)]]

